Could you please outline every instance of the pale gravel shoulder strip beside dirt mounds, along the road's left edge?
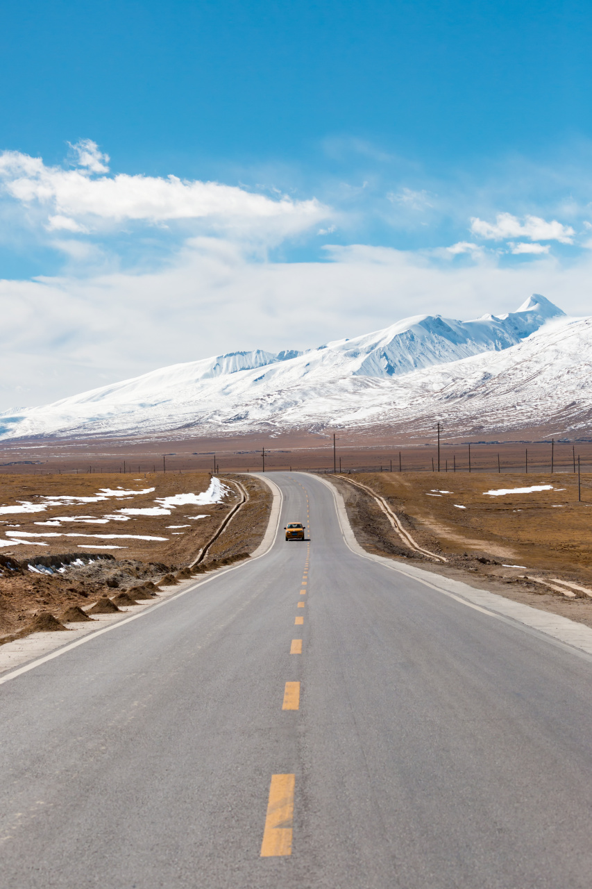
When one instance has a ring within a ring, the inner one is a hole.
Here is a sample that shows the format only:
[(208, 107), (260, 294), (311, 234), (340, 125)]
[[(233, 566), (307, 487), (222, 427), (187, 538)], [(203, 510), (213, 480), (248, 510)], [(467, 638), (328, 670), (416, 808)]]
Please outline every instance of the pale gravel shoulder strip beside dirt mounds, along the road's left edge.
[[(255, 474), (253, 473), (253, 475)], [(220, 574), (237, 571), (244, 565), (251, 564), (253, 559), (265, 556), (268, 549), (271, 549), (276, 541), (279, 528), (279, 517), (282, 509), (282, 492), (277, 485), (268, 479), (268, 477), (263, 475), (258, 475), (257, 477), (271, 489), (273, 501), (268, 528), (259, 547), (254, 550), (250, 559), (240, 562), (238, 565), (232, 565), (230, 567), (219, 568), (217, 571), (212, 571), (212, 573), (208, 574), (203, 580), (197, 582), (191, 579), (170, 587), (162, 587), (160, 589), (162, 598), (159, 602), (154, 602), (150, 599), (145, 605), (140, 604), (123, 607), (120, 609), (122, 613), (119, 614), (97, 615), (94, 618), (93, 624), (102, 624), (100, 629), (95, 629), (92, 624), (88, 623), (66, 624), (68, 631), (76, 634), (76, 639), (69, 642), (67, 645), (64, 645), (63, 630), (50, 633), (31, 633), (29, 636), (3, 645), (0, 647), (0, 685), (8, 682), (10, 679), (20, 676), (22, 673), (27, 673), (30, 669), (35, 669), (46, 661), (52, 661), (53, 658), (60, 657), (60, 654), (69, 652), (73, 648), (77, 648), (78, 645), (84, 645), (85, 642), (90, 642), (92, 639), (102, 636), (103, 633), (108, 633), (111, 629), (123, 627), (124, 624), (135, 621), (137, 618), (143, 617), (148, 612), (153, 612), (157, 608), (161, 608), (168, 602), (172, 602), (173, 599), (178, 599), (198, 587), (203, 587), (205, 583), (209, 583), (215, 577), (219, 577)], [(226, 520), (224, 524), (228, 524)], [(4, 675), (2, 675), (3, 673)]]

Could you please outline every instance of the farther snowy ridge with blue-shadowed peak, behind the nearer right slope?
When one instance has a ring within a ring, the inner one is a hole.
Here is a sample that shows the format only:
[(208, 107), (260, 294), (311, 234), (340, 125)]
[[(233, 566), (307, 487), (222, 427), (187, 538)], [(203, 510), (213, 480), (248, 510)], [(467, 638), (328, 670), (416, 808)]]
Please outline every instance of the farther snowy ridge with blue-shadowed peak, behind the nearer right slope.
[[(299, 417), (308, 422), (308, 403), (325, 397), (337, 398), (343, 417), (351, 419), (348, 393), (353, 397), (354, 392), (361, 421), (364, 393), (369, 397), (376, 387), (386, 387), (386, 397), (388, 387), (407, 390), (418, 374), (435, 379), (448, 366), (464, 366), (475, 356), (491, 364), (496, 353), (508, 350), (509, 355), (532, 334), (550, 335), (557, 326), (548, 324), (552, 319), (563, 321), (558, 325), (562, 329), (571, 324), (560, 308), (533, 294), (516, 312), (503, 316), (458, 321), (416, 315), (306, 352), (230, 352), (160, 368), (54, 404), (5, 412), (0, 414), (0, 437), (133, 435), (179, 428), (190, 428), (195, 435), (212, 427), (233, 434), (262, 422), (294, 428)], [(333, 422), (338, 420), (334, 414)]]

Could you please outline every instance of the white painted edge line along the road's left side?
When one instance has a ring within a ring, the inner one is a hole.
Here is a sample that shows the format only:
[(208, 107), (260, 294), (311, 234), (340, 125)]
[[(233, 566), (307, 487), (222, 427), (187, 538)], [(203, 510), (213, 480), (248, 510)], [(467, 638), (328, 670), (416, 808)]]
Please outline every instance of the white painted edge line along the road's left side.
[[(252, 473), (252, 475), (256, 475)], [(260, 477), (257, 474), (257, 477)], [(263, 541), (261, 541), (259, 547), (254, 550), (252, 557), (247, 561), (239, 562), (238, 565), (231, 565), (229, 568), (220, 568), (218, 571), (212, 572), (210, 577), (205, 577), (203, 581), (199, 581), (198, 583), (193, 583), (187, 589), (181, 589), (178, 593), (175, 593), (173, 596), (170, 596), (166, 599), (162, 599), (160, 602), (156, 602), (154, 605), (149, 605), (144, 611), (141, 611), (137, 614), (132, 614), (131, 617), (124, 618), (123, 621), (117, 621), (116, 623), (110, 624), (108, 627), (103, 627), (103, 629), (97, 629), (94, 633), (89, 633), (88, 636), (83, 637), (82, 639), (76, 639), (76, 642), (70, 642), (68, 645), (64, 645), (61, 648), (56, 648), (55, 651), (50, 652), (49, 654), (44, 654), (42, 658), (37, 658), (36, 661), (29, 661), (27, 664), (23, 664), (22, 667), (18, 669), (12, 670), (11, 673), (6, 673), (4, 676), (0, 676), (0, 685), (4, 685), (5, 682), (9, 682), (11, 679), (16, 679), (16, 677), (21, 676), (23, 673), (28, 673), (29, 670), (35, 669), (36, 667), (40, 667), (41, 664), (47, 663), (47, 661), (52, 661), (53, 658), (59, 658), (60, 654), (66, 654), (67, 652), (71, 652), (72, 649), (77, 648), (78, 645), (84, 645), (86, 642), (91, 642), (92, 639), (96, 639), (98, 636), (102, 636), (103, 633), (108, 633), (112, 629), (118, 629), (119, 627), (123, 627), (126, 623), (131, 623), (132, 621), (137, 621), (138, 618), (144, 617), (145, 614), (151, 614), (156, 611), (157, 608), (162, 608), (163, 605), (168, 605), (169, 602), (172, 602), (174, 599), (178, 599), (181, 596), (185, 596), (187, 593), (192, 592), (194, 589), (198, 587), (203, 587), (205, 583), (210, 583), (210, 581), (215, 581), (216, 578), (220, 577), (221, 574), (226, 574), (230, 571), (237, 571), (239, 568), (244, 568), (246, 565), (252, 565), (252, 563), (263, 556), (267, 556), (268, 552), (273, 549), (274, 544), (276, 543), (277, 534), (279, 533), (279, 525), (280, 518), (282, 516), (282, 503), (284, 501), (284, 496), (282, 494), (281, 488), (279, 488), (275, 482), (269, 481), (267, 478), (262, 479), (265, 484), (271, 490), (273, 494), (273, 501), (271, 504), (271, 511), (269, 513), (269, 521), (268, 527), (266, 529), (265, 534), (263, 535)], [(276, 529), (274, 531), (274, 526), (272, 523), (273, 519), (276, 519)], [(264, 549), (263, 552), (260, 552), (263, 549), (263, 545), (266, 544), (271, 538), (271, 541), (268, 543), (267, 549)]]

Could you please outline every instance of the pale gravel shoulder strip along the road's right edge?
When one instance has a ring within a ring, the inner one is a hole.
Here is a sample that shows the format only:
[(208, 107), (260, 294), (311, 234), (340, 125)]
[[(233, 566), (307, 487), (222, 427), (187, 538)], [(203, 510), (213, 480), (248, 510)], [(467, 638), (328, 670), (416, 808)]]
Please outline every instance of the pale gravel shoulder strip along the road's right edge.
[(451, 597), (469, 608), (475, 608), (476, 611), (489, 614), (497, 620), (508, 621), (509, 623), (517, 622), (522, 625), (524, 631), (545, 637), (548, 642), (568, 648), (572, 653), (580, 654), (582, 657), (592, 657), (592, 629), (584, 626), (584, 624), (570, 621), (569, 618), (562, 617), (559, 614), (539, 611), (538, 608), (531, 608), (530, 605), (513, 602), (511, 599), (497, 596), (495, 593), (490, 593), (485, 589), (469, 587), (468, 584), (461, 581), (453, 581), (446, 577), (438, 578), (436, 574), (422, 571), (421, 568), (416, 568), (413, 565), (402, 567), (392, 559), (366, 552), (356, 541), (356, 536), (349, 524), (348, 513), (340, 492), (335, 485), (332, 485), (323, 476), (318, 478), (324, 485), (331, 488), (343, 539), (348, 548), (358, 556), (371, 559), (372, 562), (378, 562), (391, 571), (404, 574), (414, 581), (420, 581), (425, 586), (443, 593), (444, 596)]

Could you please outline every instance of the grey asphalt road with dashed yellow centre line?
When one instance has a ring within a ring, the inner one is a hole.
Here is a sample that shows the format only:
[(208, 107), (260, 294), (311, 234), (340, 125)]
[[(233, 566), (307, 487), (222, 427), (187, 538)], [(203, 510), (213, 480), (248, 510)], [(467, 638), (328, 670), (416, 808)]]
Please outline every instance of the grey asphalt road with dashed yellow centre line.
[(589, 889), (592, 661), (273, 478), (309, 544), (0, 685), (3, 889)]

